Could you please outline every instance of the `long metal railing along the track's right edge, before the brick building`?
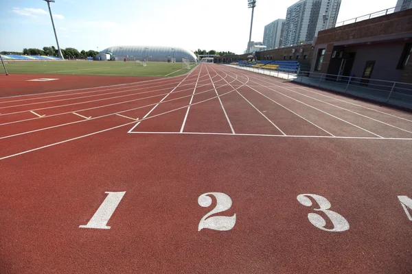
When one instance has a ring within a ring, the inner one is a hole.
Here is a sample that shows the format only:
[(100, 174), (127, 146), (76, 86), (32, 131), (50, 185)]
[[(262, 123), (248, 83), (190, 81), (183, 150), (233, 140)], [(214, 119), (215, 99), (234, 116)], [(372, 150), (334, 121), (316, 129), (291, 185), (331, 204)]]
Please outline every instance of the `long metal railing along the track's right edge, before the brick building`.
[(374, 101), (398, 105), (412, 110), (412, 84), (326, 73), (312, 73), (310, 71), (298, 71), (293, 73), (254, 68), (251, 66), (228, 66), (255, 73), (262, 73), (264, 75), (271, 75), (291, 82), (315, 86), (317, 88), (334, 90), (356, 97), (363, 97)]

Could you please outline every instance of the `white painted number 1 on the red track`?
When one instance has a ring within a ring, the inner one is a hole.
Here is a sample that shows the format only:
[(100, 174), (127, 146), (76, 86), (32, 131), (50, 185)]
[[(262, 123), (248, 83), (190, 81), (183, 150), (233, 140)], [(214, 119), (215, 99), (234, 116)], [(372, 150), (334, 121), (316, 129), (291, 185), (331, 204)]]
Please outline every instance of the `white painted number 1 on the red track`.
[(107, 226), (108, 220), (115, 212), (115, 209), (119, 205), (120, 201), (122, 200), (124, 192), (104, 192), (107, 193), (106, 199), (104, 199), (103, 203), (100, 205), (98, 210), (95, 212), (93, 217), (91, 217), (89, 223), (87, 225), (80, 225), (79, 227), (82, 228), (94, 228), (94, 229), (110, 229)]

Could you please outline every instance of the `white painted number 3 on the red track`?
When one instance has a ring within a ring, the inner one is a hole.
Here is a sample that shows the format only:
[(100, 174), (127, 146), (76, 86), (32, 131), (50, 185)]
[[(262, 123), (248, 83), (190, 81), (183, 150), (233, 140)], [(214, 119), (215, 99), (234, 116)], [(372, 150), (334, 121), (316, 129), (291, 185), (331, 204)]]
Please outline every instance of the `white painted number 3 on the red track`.
[(325, 219), (317, 213), (308, 214), (308, 219), (312, 225), (328, 232), (344, 232), (349, 229), (349, 223), (347, 223), (346, 219), (341, 214), (329, 210), (331, 205), (325, 197), (316, 194), (301, 194), (297, 196), (297, 201), (304, 206), (312, 206), (312, 201), (308, 197), (312, 197), (319, 205), (319, 208), (314, 208), (313, 210), (325, 213), (330, 221), (332, 221), (334, 228), (325, 228)]

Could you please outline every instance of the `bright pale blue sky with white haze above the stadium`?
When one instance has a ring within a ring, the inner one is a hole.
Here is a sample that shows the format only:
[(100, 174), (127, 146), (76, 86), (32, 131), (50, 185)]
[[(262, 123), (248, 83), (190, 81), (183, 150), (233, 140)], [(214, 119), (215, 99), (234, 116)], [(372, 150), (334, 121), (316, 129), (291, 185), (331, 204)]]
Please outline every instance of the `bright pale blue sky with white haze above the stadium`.
[[(252, 40), (285, 18), (297, 0), (258, 0)], [(396, 0), (342, 0), (338, 22), (394, 7)], [(243, 53), (249, 41), (247, 0), (56, 0), (51, 3), (60, 47), (81, 51), (152, 45)], [(47, 3), (0, 0), (0, 51), (56, 46)]]

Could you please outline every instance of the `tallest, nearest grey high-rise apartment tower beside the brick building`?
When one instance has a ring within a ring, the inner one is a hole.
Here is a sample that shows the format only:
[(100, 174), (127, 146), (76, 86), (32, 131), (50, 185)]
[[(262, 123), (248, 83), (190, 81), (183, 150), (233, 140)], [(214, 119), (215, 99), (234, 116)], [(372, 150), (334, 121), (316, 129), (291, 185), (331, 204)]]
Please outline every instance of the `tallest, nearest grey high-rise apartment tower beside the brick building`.
[(339, 8), (341, 0), (300, 0), (291, 5), (286, 13), (282, 46), (312, 42), (320, 30), (336, 25)]

